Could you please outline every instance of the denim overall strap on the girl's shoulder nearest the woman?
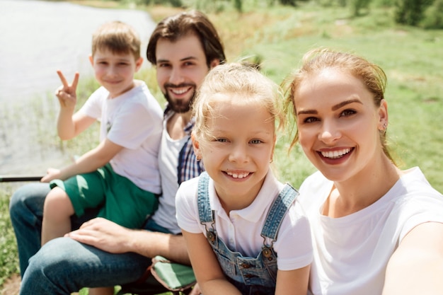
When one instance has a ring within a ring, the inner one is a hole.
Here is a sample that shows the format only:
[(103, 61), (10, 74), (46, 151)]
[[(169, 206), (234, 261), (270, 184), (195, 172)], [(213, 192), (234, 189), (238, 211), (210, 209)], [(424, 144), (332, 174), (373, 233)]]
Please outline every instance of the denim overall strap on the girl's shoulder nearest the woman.
[(263, 226), (261, 236), (277, 240), (277, 233), (282, 224), (284, 215), (287, 213), (289, 206), (294, 202), (294, 199), (299, 195), (299, 192), (287, 183), (283, 190), (275, 198), (271, 209), (267, 213), (265, 225)]

